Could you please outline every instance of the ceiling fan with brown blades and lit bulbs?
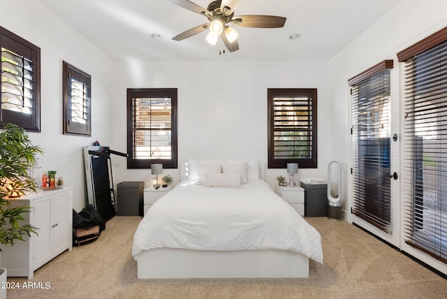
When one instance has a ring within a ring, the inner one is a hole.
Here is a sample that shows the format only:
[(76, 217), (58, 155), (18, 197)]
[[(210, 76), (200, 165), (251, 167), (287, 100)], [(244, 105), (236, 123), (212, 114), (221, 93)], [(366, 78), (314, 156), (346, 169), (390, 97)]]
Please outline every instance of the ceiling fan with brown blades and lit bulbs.
[(233, 24), (241, 27), (251, 28), (279, 28), (284, 27), (285, 17), (277, 17), (275, 15), (237, 15), (235, 9), (242, 0), (217, 0), (212, 1), (205, 9), (202, 6), (188, 0), (170, 0), (171, 2), (191, 10), (194, 13), (204, 15), (210, 22), (201, 24), (197, 27), (184, 31), (182, 34), (173, 37), (174, 41), (182, 41), (200, 32), (210, 29), (205, 38), (211, 45), (216, 45), (219, 36), (223, 44), (230, 52), (239, 50), (237, 37), (239, 34), (235, 29), (229, 27)]

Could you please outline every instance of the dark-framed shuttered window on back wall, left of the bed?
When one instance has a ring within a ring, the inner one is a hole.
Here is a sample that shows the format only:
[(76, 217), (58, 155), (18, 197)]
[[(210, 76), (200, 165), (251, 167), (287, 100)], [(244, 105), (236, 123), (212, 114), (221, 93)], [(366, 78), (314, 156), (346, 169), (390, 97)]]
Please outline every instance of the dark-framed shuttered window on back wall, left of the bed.
[(127, 89), (127, 168), (177, 168), (177, 89)]

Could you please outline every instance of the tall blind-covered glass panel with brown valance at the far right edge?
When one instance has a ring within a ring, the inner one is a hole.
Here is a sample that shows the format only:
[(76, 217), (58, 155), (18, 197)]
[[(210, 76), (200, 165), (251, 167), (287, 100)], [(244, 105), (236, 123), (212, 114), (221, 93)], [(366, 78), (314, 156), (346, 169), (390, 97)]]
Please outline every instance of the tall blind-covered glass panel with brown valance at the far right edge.
[(404, 62), (404, 239), (447, 263), (447, 27), (397, 54)]

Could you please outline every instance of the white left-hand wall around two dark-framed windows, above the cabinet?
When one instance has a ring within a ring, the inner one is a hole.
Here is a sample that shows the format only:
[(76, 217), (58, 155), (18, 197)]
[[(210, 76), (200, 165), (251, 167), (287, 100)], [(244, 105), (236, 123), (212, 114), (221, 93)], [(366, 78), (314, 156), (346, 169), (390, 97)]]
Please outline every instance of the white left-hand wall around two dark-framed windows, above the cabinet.
[[(112, 60), (54, 15), (40, 1), (0, 0), (0, 26), (41, 48), (41, 133), (29, 133), (34, 145), (44, 149), (40, 169), (57, 170), (67, 186), (75, 187), (73, 207), (85, 207), (85, 172), (82, 147), (94, 140), (109, 143), (109, 99)], [(17, 14), (20, 11), (20, 22)], [(62, 134), (62, 61), (91, 75), (91, 137)], [(38, 181), (39, 182), (39, 181)]]

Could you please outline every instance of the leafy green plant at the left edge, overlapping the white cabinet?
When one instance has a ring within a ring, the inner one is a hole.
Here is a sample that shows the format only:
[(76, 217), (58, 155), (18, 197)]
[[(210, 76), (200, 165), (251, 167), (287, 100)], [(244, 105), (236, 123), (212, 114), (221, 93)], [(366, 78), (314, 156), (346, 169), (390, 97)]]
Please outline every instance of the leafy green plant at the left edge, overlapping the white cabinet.
[[(31, 144), (27, 132), (15, 124), (2, 124), (0, 129), (0, 251), (2, 246), (14, 245), (37, 233), (37, 228), (20, 224), (22, 214), (30, 212), (29, 207), (13, 206), (10, 201), (25, 191), (36, 191), (36, 182), (29, 169), (36, 163), (36, 154), (42, 150)], [(6, 274), (6, 270), (5, 270)]]

